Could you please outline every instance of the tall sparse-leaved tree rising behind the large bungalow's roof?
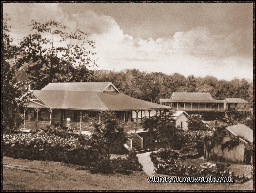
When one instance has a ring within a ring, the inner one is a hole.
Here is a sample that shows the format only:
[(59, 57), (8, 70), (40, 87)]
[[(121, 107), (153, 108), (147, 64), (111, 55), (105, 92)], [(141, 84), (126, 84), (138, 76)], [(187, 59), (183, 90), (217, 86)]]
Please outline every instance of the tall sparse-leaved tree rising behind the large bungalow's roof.
[(22, 62), (26, 63), (29, 84), (32, 89), (41, 89), (50, 82), (93, 81), (96, 65), (95, 42), (87, 40), (81, 30), (71, 32), (61, 23), (32, 21), (31, 31), (20, 42)]

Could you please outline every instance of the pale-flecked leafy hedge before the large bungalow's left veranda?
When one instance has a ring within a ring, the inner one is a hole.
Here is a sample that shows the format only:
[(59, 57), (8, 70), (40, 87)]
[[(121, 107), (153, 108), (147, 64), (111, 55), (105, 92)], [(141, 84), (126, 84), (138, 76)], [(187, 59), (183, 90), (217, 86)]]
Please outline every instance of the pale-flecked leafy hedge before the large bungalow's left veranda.
[(4, 156), (63, 161), (87, 165), (94, 159), (91, 147), (86, 144), (87, 136), (71, 135), (63, 138), (44, 131), (34, 133), (4, 134)]

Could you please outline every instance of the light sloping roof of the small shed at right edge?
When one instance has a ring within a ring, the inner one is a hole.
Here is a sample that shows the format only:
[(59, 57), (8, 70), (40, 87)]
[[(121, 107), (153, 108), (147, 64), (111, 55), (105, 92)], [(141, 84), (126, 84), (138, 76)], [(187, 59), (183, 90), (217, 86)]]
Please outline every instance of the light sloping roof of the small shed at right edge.
[(241, 136), (247, 139), (249, 142), (253, 141), (252, 130), (249, 127), (247, 127), (245, 124), (228, 126), (226, 129), (236, 136)]

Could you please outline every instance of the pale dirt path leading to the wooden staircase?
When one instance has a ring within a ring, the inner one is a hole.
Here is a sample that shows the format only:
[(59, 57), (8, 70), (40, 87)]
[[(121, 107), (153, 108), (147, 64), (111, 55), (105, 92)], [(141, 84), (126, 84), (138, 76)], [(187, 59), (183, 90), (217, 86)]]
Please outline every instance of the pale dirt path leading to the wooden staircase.
[(155, 174), (154, 165), (149, 157), (151, 152), (146, 152), (144, 154), (137, 154), (140, 164), (143, 166), (143, 171), (150, 177)]

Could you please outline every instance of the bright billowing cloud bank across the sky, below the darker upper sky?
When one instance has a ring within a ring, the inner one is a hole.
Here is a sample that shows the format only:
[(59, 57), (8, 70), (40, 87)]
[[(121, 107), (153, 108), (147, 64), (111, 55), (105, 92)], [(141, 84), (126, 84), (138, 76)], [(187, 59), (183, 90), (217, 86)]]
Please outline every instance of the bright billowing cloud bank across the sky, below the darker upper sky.
[[(28, 4), (27, 7), (5, 7), (12, 18), (14, 34), (25, 36), (32, 19), (40, 22), (57, 19), (71, 30), (80, 28), (90, 33), (96, 42), (99, 69), (122, 70), (137, 68), (167, 74), (206, 76), (231, 79), (252, 79), (252, 45), (247, 34), (216, 34), (198, 26), (188, 31), (177, 31), (174, 36), (133, 38), (125, 34), (111, 16), (84, 10), (68, 15), (58, 4)], [(23, 18), (24, 17), (24, 18)], [(22, 18), (22, 19), (21, 19)], [(241, 70), (242, 66), (242, 70)]]

